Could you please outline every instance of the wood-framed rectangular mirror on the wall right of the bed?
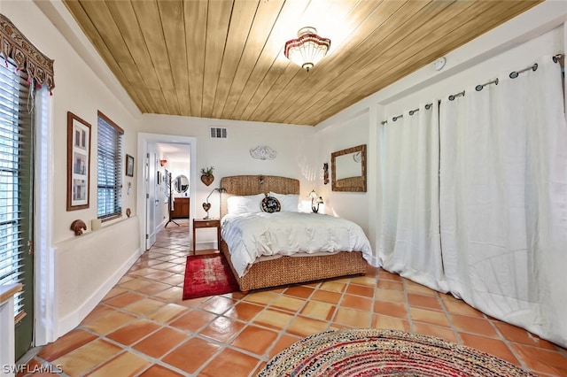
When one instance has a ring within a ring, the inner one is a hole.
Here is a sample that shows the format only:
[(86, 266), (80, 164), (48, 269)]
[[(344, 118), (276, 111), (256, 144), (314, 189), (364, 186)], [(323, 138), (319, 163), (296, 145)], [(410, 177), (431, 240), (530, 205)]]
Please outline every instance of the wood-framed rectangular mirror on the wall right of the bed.
[(330, 154), (333, 191), (366, 192), (366, 144)]

